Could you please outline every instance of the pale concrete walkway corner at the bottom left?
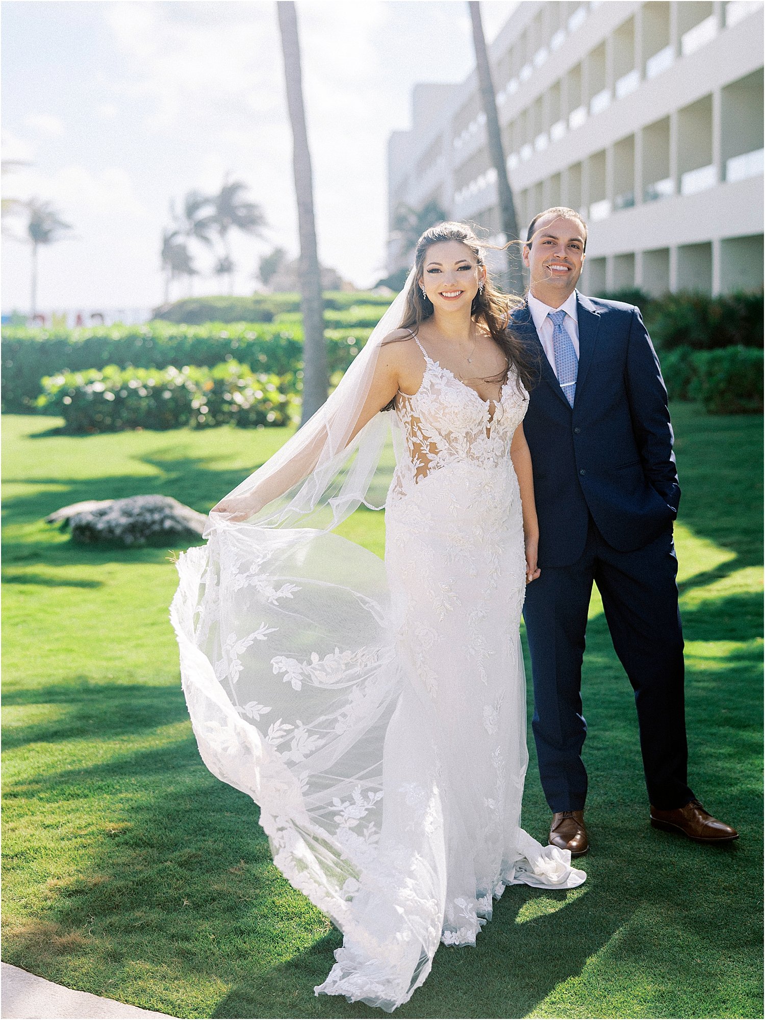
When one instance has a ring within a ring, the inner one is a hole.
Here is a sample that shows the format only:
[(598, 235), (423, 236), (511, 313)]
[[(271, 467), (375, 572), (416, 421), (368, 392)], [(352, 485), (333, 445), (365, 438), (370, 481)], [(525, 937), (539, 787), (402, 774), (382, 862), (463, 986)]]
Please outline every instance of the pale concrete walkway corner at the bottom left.
[(167, 1017), (166, 1013), (141, 1010), (113, 999), (74, 991), (43, 977), (29, 974), (9, 963), (2, 965), (3, 1020), (108, 1020), (115, 1017)]

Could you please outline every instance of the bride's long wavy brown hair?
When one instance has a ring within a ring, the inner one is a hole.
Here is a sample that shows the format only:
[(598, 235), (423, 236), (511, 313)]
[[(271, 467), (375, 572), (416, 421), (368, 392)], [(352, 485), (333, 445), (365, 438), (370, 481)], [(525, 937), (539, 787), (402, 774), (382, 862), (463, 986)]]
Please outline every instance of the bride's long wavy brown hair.
[[(477, 237), (465, 223), (447, 221), (430, 226), (421, 236), (414, 249), (414, 278), (406, 296), (404, 314), (400, 328), (417, 333), (420, 324), (434, 313), (432, 302), (423, 297), (420, 291), (420, 280), (423, 277), (425, 255), (431, 245), (442, 241), (459, 241), (472, 252), (478, 265), (486, 266), (483, 251)], [(516, 308), (523, 305), (522, 297), (503, 294), (494, 285), (489, 271), (483, 283), (483, 290), (473, 298), (470, 314), (474, 322), (482, 323), (492, 339), (507, 358), (507, 371), (486, 379), (487, 382), (504, 382), (510, 368), (515, 368), (518, 379), (526, 389), (530, 389), (536, 378), (529, 362), (529, 356), (512, 329), (509, 328), (510, 316)]]

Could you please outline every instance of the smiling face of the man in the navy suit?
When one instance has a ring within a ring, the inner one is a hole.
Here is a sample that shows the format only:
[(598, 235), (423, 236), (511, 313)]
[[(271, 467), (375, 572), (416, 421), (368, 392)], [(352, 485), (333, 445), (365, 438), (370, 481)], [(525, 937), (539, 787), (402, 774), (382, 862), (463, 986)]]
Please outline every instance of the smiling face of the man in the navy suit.
[(536, 298), (559, 307), (576, 287), (584, 261), (584, 236), (577, 219), (547, 216), (523, 246), (523, 262)]

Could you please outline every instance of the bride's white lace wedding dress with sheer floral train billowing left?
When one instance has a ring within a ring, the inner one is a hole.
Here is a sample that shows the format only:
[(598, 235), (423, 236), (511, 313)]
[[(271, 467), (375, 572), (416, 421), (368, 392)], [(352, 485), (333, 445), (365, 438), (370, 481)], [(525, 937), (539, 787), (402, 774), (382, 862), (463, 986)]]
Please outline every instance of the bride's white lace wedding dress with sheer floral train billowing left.
[(389, 1011), (506, 885), (584, 880), (520, 828), (528, 398), (511, 375), (486, 402), (423, 356), (390, 412), (385, 566), (332, 532), (232, 525), (184, 555), (172, 607), (205, 763), (343, 931), (316, 992)]

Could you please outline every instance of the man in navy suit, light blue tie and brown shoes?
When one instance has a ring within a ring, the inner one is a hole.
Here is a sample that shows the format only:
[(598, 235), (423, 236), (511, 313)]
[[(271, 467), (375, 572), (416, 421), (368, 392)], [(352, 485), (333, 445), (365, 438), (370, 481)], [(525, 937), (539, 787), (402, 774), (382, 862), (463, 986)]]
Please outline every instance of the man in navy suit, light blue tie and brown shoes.
[(737, 838), (687, 785), (682, 630), (672, 521), (680, 490), (659, 362), (641, 313), (576, 290), (586, 225), (547, 209), (528, 227), (530, 286), (512, 326), (538, 366), (523, 428), (541, 576), (523, 608), (533, 734), (550, 843), (589, 849), (581, 662), (593, 582), (634, 690), (651, 823), (700, 843)]

